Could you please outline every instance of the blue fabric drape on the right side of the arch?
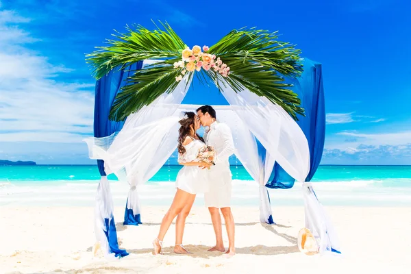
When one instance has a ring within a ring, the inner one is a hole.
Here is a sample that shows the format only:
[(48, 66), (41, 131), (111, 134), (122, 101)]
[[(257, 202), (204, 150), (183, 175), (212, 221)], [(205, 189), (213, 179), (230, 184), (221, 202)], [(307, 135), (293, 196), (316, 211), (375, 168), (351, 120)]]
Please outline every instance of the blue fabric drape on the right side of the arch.
[[(292, 90), (299, 95), (301, 105), (306, 110), (306, 116), (299, 116), (297, 122), (303, 130), (310, 147), (310, 173), (306, 178), (309, 182), (318, 168), (323, 155), (325, 140), (325, 99), (323, 74), (321, 64), (309, 59), (303, 61), (304, 71), (297, 79), (286, 79), (294, 84)], [(292, 188), (293, 179), (279, 164), (275, 163), (273, 179), (266, 184), (268, 188)]]

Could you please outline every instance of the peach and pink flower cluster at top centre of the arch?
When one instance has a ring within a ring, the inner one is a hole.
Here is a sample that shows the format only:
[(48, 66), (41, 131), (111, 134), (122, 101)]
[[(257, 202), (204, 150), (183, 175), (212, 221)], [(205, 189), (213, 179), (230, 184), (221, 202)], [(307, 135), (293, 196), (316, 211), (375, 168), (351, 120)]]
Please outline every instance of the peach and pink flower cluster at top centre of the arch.
[(187, 71), (206, 71), (214, 69), (214, 71), (221, 74), (223, 77), (229, 75), (229, 66), (224, 64), (220, 58), (216, 59), (216, 55), (207, 53), (208, 46), (201, 47), (194, 46), (192, 49), (186, 47), (182, 52), (182, 60), (174, 63), (174, 69), (184, 69), (181, 75), (175, 77), (175, 81), (180, 82)]

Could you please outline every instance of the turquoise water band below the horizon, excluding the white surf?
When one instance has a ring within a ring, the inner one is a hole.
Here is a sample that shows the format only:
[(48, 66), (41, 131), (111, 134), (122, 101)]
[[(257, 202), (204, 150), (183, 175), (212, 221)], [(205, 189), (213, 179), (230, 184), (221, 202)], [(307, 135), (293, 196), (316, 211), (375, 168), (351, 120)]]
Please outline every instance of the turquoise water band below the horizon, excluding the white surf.
[[(151, 178), (151, 182), (175, 181), (182, 166), (163, 166)], [(231, 166), (233, 179), (251, 180), (243, 166)], [(37, 166), (0, 166), (0, 182), (38, 181), (37, 184), (49, 184), (49, 181), (71, 181), (99, 179), (99, 171), (95, 165), (37, 165)], [(389, 180), (411, 179), (411, 166), (319, 166), (312, 182), (351, 182), (356, 180)], [(115, 179), (110, 176), (110, 179)], [(395, 180), (393, 180), (395, 183)]]

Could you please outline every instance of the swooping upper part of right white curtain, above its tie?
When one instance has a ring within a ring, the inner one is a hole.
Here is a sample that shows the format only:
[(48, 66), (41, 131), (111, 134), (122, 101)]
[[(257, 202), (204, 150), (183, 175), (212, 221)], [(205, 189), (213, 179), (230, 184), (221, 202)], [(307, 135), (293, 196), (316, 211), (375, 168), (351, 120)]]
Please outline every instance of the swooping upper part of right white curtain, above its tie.
[[(310, 171), (308, 141), (288, 113), (265, 97), (258, 97), (247, 88), (236, 93), (221, 82), (223, 96), (267, 152), (299, 182)], [(280, 145), (279, 145), (280, 144)]]

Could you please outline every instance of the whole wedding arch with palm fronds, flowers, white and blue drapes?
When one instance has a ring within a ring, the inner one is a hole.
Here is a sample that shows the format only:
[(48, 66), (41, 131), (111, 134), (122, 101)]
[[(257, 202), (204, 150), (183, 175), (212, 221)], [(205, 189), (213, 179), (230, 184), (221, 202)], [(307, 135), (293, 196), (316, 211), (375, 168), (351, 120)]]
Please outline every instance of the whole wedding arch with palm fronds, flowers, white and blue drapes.
[[(87, 56), (97, 84), (95, 138), (85, 141), (101, 173), (95, 233), (105, 255), (128, 254), (117, 242), (107, 175), (114, 173), (130, 186), (125, 225), (141, 224), (137, 186), (153, 177), (175, 151), (179, 113), (197, 108), (182, 105), (194, 75), (215, 84), (229, 103), (216, 106), (217, 118), (231, 127), (236, 157), (259, 185), (260, 221), (274, 223), (267, 187), (291, 187), (278, 177), (279, 184), (273, 186), (271, 175), (285, 173), (292, 182), (303, 183), (306, 227), (321, 253), (340, 253), (332, 224), (308, 182), (323, 151), (321, 65), (300, 58), (294, 46), (264, 30), (233, 30), (201, 51), (199, 46), (187, 47), (168, 24), (163, 27), (149, 31), (138, 25)], [(316, 92), (305, 90), (309, 87)], [(312, 110), (307, 116), (297, 93), (314, 99), (306, 101)], [(299, 119), (310, 121), (306, 132)]]

